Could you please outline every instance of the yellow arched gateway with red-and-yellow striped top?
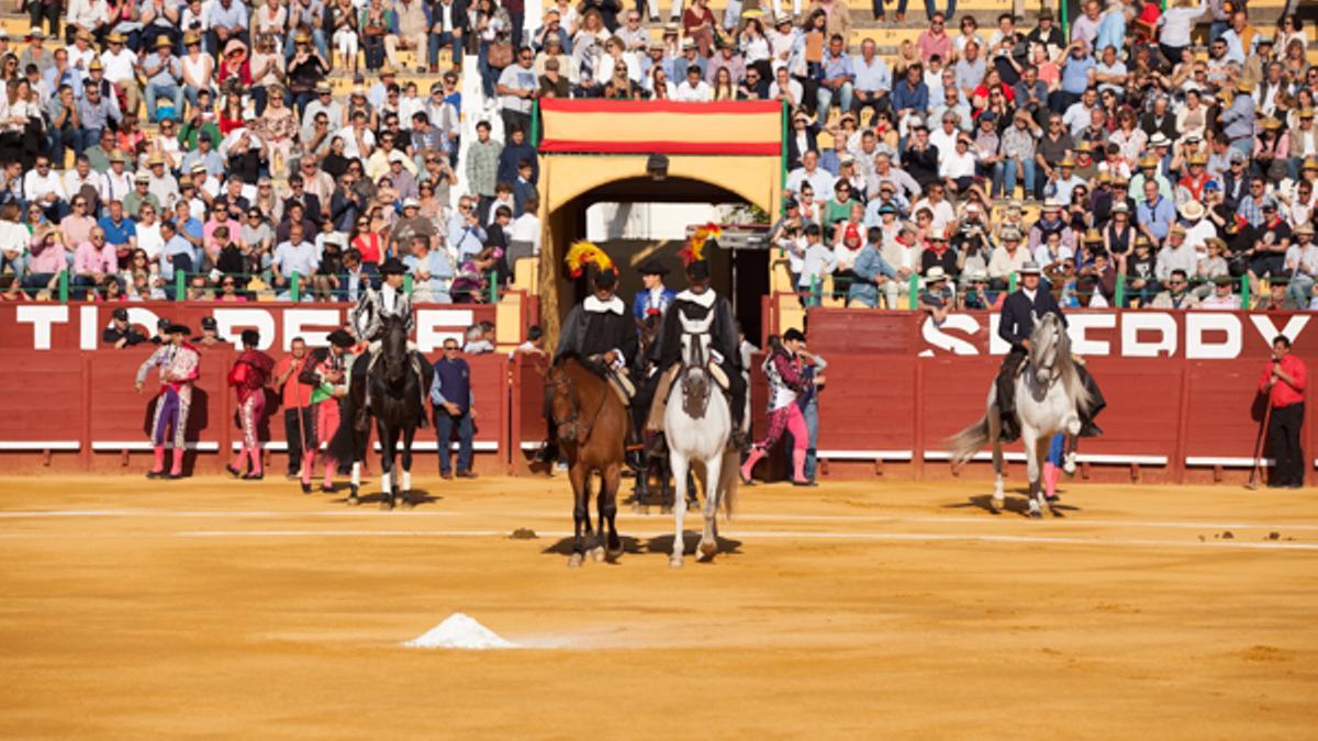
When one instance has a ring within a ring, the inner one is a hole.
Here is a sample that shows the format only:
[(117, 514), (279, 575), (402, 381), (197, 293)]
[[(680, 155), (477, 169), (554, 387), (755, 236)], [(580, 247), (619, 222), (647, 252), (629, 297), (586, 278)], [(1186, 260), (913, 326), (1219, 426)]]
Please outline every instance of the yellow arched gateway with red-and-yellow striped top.
[[(540, 299), (546, 332), (556, 339), (567, 311), (584, 295), (563, 264), (587, 239), (587, 210), (597, 203), (750, 204), (776, 215), (783, 193), (783, 107), (778, 102), (672, 103), (547, 99), (536, 108), (540, 178), (540, 258), (517, 281)], [(683, 224), (685, 227), (688, 224)], [(722, 243), (721, 243), (722, 244)], [(601, 244), (619, 264), (619, 295), (641, 287), (634, 268), (655, 257), (670, 287), (685, 286), (681, 240)], [(764, 249), (708, 254), (714, 286), (734, 299), (747, 334), (758, 336), (770, 293)]]

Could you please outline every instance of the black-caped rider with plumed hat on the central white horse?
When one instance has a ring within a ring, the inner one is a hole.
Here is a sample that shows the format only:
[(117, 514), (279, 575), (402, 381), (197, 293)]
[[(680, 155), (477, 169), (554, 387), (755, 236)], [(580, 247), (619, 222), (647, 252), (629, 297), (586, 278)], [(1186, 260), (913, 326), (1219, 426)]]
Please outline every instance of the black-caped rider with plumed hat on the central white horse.
[[(708, 240), (705, 244), (714, 244)], [(700, 245), (702, 248), (704, 245)], [(650, 417), (646, 422), (647, 432), (656, 432), (646, 451), (650, 456), (664, 455), (667, 442), (663, 436), (663, 417), (668, 409), (668, 392), (681, 367), (681, 320), (704, 322), (710, 312), (714, 319), (709, 326), (709, 355), (710, 365), (717, 368), (718, 381), (726, 384), (731, 396), (731, 446), (737, 450), (746, 448), (746, 432), (742, 429), (742, 417), (746, 409), (746, 380), (741, 373), (741, 355), (737, 351), (737, 322), (733, 319), (731, 303), (714, 293), (709, 287), (709, 262), (701, 254), (700, 248), (693, 248), (688, 254), (692, 260), (687, 264), (687, 281), (691, 286), (677, 294), (672, 306), (664, 315), (663, 334), (659, 341), (651, 348), (651, 359), (658, 364), (658, 381), (654, 386), (654, 402), (650, 406)]]

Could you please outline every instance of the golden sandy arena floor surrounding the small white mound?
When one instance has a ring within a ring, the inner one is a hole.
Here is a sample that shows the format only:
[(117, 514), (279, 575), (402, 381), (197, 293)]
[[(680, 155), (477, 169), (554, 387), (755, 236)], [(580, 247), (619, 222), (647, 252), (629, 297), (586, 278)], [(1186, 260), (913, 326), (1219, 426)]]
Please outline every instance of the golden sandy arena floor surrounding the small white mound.
[[(623, 506), (571, 571), (565, 479), (418, 485), (3, 480), (0, 736), (1318, 736), (1313, 490), (757, 487), (712, 564)], [(456, 612), (529, 647), (401, 646)]]

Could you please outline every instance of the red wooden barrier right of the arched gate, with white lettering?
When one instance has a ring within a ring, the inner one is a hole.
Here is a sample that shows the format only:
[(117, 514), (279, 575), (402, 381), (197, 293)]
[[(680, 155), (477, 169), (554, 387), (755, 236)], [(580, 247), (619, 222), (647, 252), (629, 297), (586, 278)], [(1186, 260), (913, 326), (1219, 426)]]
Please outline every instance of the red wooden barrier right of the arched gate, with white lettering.
[[(1281, 312), (1074, 312), (1070, 334), (1107, 398), (1101, 438), (1081, 446), (1095, 479), (1211, 481), (1243, 477), (1263, 417), (1256, 393), (1271, 339), (1285, 331), (1313, 365), (1311, 315)], [(812, 352), (825, 357), (818, 451), (830, 475), (953, 476), (948, 436), (983, 414), (1006, 345), (996, 318), (954, 315), (941, 327), (921, 312), (815, 310)], [(786, 328), (786, 327), (783, 327)], [(775, 328), (780, 330), (780, 328)], [(999, 347), (1000, 345), (1000, 347)], [(758, 372), (757, 364), (757, 376)], [(753, 382), (758, 425), (764, 385)], [(1313, 405), (1302, 439), (1310, 446)], [(758, 426), (757, 429), (763, 429)], [(1008, 448), (1020, 452), (1019, 443)], [(965, 475), (987, 475), (974, 463)]]

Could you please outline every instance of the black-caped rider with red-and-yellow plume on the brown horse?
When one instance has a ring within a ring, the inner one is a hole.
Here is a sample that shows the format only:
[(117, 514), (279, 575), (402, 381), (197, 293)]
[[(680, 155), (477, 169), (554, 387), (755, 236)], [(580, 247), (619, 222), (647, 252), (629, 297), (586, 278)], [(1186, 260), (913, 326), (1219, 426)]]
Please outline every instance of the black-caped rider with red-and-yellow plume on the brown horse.
[[(618, 274), (609, 256), (590, 243), (577, 243), (568, 252), (573, 273), (580, 276), (585, 264), (594, 265), (590, 281), (594, 293), (572, 307), (563, 322), (563, 335), (555, 359), (576, 356), (598, 364), (609, 374), (609, 382), (626, 397), (630, 406), (635, 386), (627, 374), (627, 365), (639, 353), (637, 326), (626, 305), (614, 295)], [(635, 430), (629, 430), (629, 443), (635, 443)], [(629, 455), (633, 465), (639, 465), (639, 450)]]

